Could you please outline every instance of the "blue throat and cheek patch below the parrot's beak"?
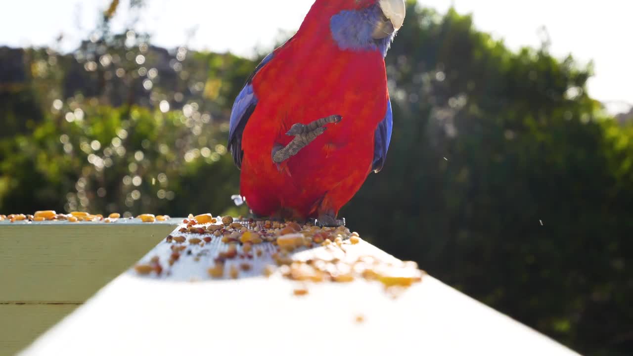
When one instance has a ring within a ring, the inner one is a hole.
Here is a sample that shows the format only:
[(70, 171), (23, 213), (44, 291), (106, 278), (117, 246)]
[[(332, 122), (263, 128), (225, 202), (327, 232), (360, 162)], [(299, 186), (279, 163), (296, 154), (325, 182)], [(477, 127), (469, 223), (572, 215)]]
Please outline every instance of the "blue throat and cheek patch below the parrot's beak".
[(384, 57), (395, 33), (384, 39), (373, 39), (373, 29), (381, 20), (382, 10), (378, 4), (363, 10), (344, 10), (330, 18), (330, 32), (340, 49), (380, 51)]

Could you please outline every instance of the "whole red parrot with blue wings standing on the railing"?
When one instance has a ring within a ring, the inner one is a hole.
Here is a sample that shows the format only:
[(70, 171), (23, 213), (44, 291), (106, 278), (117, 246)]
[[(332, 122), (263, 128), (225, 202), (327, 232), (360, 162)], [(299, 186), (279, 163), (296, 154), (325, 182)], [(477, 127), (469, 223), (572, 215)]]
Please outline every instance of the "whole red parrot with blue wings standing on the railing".
[(229, 149), (251, 211), (338, 226), (391, 139), (384, 57), (404, 0), (316, 0), (235, 99)]

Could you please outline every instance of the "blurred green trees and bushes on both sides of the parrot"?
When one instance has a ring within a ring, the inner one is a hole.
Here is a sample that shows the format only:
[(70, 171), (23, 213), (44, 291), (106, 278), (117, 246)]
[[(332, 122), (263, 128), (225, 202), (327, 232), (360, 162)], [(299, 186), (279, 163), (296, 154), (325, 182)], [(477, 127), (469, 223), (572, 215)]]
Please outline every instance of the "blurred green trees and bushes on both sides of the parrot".
[[(571, 56), (513, 53), (470, 16), (408, 6), (387, 56), (387, 162), (341, 215), (572, 348), (630, 354), (633, 126), (587, 96), (591, 67)], [(225, 143), (256, 63), (108, 21), (72, 56), (28, 49), (0, 87), (0, 211), (245, 213)]]

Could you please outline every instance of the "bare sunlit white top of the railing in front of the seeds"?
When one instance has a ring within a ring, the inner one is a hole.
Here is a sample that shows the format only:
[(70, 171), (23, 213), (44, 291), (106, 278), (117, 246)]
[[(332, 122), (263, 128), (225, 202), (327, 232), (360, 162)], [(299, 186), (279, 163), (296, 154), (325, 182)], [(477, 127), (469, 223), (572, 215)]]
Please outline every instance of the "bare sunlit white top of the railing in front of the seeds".
[(278, 276), (210, 280), (194, 256), (171, 276), (126, 272), (21, 355), (577, 355), (430, 276), (396, 299), (361, 280), (295, 296)]

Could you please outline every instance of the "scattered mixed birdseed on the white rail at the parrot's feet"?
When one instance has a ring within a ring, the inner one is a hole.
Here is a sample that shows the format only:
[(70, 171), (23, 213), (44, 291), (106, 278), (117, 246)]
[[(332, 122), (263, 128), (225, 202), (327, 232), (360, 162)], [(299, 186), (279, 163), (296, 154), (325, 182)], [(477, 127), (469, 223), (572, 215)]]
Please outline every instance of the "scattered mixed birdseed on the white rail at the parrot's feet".
[[(302, 284), (293, 292), (298, 296), (308, 294), (306, 283), (349, 283), (357, 279), (379, 281), (395, 291), (420, 282), (424, 274), (415, 262), (402, 262), (382, 253), (346, 227), (252, 219), (235, 221), (232, 217), (190, 214), (164, 243), (171, 251), (168, 259), (163, 257), (165, 269), (154, 256), (153, 262), (136, 265), (137, 273), (169, 275), (170, 267), (182, 260), (183, 253), (193, 254), (194, 261), (200, 261), (213, 250), (215, 256), (200, 262), (208, 264), (205, 267), (208, 277), (235, 279), (242, 273), (253, 276), (253, 272), (282, 276)], [(209, 248), (211, 244), (215, 248)], [(254, 265), (262, 264), (253, 262), (268, 263), (265, 268), (254, 271)]]

